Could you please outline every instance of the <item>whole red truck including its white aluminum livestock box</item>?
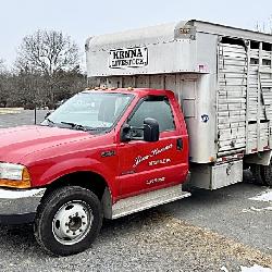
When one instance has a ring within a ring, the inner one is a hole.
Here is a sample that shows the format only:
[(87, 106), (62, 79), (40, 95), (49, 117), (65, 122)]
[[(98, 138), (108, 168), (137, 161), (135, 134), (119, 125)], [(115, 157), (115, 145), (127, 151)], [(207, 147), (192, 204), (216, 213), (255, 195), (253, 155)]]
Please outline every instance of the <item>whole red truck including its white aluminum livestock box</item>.
[(34, 222), (65, 256), (103, 218), (188, 197), (186, 181), (217, 189), (249, 165), (271, 185), (271, 35), (187, 21), (89, 38), (86, 55), (99, 87), (0, 131), (0, 222)]

